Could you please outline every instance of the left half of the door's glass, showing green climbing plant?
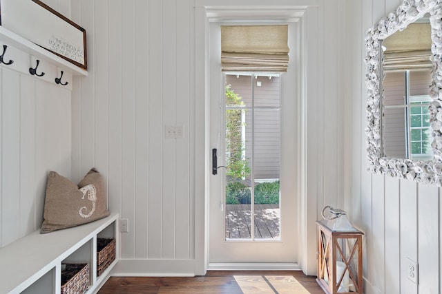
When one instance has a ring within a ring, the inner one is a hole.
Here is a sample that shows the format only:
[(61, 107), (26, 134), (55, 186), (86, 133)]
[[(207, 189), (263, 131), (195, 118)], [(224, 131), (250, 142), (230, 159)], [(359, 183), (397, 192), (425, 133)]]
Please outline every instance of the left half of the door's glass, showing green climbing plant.
[(225, 95), (226, 240), (251, 240), (251, 168), (245, 137), (246, 116), (251, 116), (251, 76), (228, 74)]

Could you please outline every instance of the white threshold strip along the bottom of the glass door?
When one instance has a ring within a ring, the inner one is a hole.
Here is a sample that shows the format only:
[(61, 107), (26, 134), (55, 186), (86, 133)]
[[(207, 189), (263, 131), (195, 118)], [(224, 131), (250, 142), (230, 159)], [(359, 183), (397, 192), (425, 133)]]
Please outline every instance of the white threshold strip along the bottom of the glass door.
[(296, 262), (211, 262), (207, 267), (212, 271), (300, 271)]

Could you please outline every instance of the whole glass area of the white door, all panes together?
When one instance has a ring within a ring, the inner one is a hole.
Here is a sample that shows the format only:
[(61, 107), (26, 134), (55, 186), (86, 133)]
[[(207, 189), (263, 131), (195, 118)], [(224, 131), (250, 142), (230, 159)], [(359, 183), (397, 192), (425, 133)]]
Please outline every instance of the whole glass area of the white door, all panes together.
[(226, 240), (280, 238), (280, 77), (226, 74)]

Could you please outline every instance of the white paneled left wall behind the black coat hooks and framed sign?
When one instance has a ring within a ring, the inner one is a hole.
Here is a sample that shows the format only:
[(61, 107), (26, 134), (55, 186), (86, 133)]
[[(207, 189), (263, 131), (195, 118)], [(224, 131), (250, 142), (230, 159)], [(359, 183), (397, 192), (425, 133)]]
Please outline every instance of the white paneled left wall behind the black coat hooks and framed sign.
[[(68, 15), (70, 3), (44, 1)], [(35, 231), (43, 220), (48, 171), (70, 177), (72, 81), (54, 83), (57, 67), (41, 61), (39, 71), (29, 74), (35, 60), (8, 45), (0, 65), (0, 247)], [(31, 61), (33, 63), (31, 63)]]

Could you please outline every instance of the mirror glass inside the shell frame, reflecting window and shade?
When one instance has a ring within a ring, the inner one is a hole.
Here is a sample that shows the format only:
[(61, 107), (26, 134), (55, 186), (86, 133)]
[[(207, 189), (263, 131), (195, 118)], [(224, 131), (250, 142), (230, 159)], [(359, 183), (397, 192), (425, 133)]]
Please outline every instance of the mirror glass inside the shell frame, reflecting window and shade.
[(381, 44), (383, 156), (432, 160), (431, 45), (427, 15)]

